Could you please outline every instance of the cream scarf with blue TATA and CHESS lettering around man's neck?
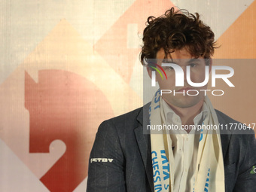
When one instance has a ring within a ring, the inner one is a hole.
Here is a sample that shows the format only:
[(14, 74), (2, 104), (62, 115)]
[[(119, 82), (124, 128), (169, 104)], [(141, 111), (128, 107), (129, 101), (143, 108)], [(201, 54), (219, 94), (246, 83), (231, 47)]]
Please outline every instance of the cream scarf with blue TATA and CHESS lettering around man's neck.
[[(210, 112), (204, 119), (203, 124), (218, 126), (218, 117), (207, 96), (204, 102), (206, 102)], [(166, 124), (160, 90), (155, 93), (151, 101), (149, 113), (151, 127)], [(157, 134), (151, 133), (151, 157), (154, 191), (173, 191), (175, 163), (169, 130), (158, 130)], [(201, 130), (197, 170), (194, 174), (194, 188), (191, 191), (225, 191), (221, 136), (218, 130)]]

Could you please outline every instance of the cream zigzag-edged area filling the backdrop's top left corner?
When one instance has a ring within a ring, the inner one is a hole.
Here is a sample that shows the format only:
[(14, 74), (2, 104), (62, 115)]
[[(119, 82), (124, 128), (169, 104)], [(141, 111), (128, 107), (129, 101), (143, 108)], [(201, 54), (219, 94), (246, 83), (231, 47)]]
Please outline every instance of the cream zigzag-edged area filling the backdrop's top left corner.
[(66, 19), (93, 46), (133, 2), (1, 0), (0, 84), (60, 20)]

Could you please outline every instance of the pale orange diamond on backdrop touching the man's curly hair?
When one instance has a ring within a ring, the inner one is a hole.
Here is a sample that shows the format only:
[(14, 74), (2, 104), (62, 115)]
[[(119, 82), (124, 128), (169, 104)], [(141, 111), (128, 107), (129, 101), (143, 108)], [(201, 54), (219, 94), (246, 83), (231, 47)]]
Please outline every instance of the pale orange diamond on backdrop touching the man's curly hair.
[(163, 1), (143, 1), (137, 0), (129, 9), (111, 26), (110, 29), (96, 42), (94, 49), (103, 56), (115, 72), (117, 72), (126, 83), (129, 83), (133, 73), (133, 66), (139, 57), (141, 47), (129, 46), (127, 42), (134, 41), (129, 39), (129, 26), (135, 27), (133, 38), (139, 41), (145, 28), (145, 21), (148, 16), (158, 17), (167, 9), (174, 5), (169, 0)]

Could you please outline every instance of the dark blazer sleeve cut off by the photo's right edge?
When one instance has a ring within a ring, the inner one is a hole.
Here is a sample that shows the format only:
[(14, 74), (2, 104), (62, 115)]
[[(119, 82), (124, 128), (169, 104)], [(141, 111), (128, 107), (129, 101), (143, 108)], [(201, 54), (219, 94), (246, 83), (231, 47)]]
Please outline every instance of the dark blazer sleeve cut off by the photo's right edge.
[[(256, 191), (256, 142), (254, 134), (247, 135), (245, 156), (239, 164), (234, 192)], [(255, 169), (254, 169), (255, 168)]]

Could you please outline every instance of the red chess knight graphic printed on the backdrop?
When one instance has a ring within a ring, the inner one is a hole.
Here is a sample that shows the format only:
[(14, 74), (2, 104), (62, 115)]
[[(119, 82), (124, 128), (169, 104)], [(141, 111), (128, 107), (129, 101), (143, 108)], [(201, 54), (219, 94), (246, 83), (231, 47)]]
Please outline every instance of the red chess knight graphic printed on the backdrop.
[(56, 139), (66, 144), (65, 154), (41, 177), (41, 182), (52, 192), (74, 190), (87, 176), (92, 147), (88, 143), (93, 143), (94, 127), (102, 119), (113, 117), (108, 100), (86, 78), (61, 70), (43, 70), (38, 72), (38, 83), (26, 73), (25, 107), (30, 116), (30, 153), (49, 153), (50, 143)]

